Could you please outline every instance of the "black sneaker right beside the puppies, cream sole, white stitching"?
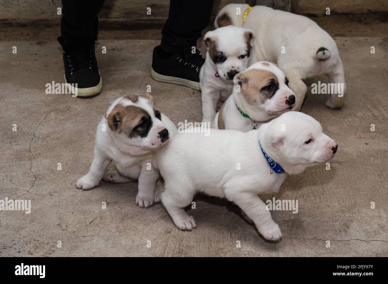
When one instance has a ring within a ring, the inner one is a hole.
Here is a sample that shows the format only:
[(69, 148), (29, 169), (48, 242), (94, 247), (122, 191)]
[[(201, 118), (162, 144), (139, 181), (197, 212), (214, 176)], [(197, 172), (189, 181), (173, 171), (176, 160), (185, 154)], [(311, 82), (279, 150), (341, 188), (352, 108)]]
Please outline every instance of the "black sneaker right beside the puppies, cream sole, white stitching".
[(192, 47), (184, 48), (183, 54), (166, 54), (160, 45), (154, 48), (152, 54), (151, 76), (156, 81), (184, 85), (195, 90), (199, 88), (199, 70), (205, 59), (191, 52)]

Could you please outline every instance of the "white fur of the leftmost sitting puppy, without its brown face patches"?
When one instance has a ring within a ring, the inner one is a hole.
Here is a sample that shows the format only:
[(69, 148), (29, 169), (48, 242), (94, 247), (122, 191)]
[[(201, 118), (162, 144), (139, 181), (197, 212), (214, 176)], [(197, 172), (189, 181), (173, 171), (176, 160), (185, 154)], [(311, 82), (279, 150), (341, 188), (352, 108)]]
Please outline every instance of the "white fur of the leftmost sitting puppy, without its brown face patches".
[[(171, 138), (178, 131), (174, 123), (164, 114), (161, 114), (161, 121), (157, 119), (154, 115), (152, 103), (144, 97), (139, 97), (136, 103), (120, 97), (109, 107), (107, 114), (110, 114), (117, 104), (135, 105), (145, 109), (152, 118), (152, 128), (149, 130), (147, 137), (130, 139), (123, 133), (120, 134), (111, 130), (107, 119), (102, 118), (97, 126), (92, 165), (89, 172), (76, 182), (76, 187), (83, 190), (91, 189), (99, 185), (103, 177), (105, 182), (111, 183), (138, 180), (139, 192), (136, 196), (136, 203), (140, 207), (148, 207), (154, 202), (160, 201), (160, 192), (155, 192), (155, 189), (157, 191), (160, 189), (160, 186), (156, 185), (159, 172), (152, 166), (151, 170), (147, 170), (147, 167), (149, 168), (152, 163), (155, 152), (166, 144), (158, 138), (158, 132), (167, 128)], [(106, 129), (106, 131), (103, 129)], [(118, 171), (106, 173), (112, 161)]]

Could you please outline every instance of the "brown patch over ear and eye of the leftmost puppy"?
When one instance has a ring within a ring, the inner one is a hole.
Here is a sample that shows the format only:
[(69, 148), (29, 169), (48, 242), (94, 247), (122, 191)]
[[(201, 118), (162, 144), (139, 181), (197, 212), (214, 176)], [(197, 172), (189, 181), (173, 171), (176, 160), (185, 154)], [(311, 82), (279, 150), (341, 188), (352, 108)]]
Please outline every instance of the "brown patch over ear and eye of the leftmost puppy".
[(107, 118), (108, 126), (112, 131), (129, 134), (143, 116), (149, 117), (149, 114), (141, 107), (117, 104)]

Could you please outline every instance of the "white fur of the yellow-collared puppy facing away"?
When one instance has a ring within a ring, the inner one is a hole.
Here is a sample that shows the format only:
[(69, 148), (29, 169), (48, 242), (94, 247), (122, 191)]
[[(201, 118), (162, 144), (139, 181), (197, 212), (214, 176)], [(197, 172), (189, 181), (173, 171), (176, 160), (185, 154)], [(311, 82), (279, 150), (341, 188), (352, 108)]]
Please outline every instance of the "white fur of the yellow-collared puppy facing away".
[[(227, 13), (236, 26), (242, 26), (242, 14), (249, 7), (247, 4), (229, 4), (223, 7), (218, 16)], [(236, 15), (236, 9), (241, 15)], [(277, 63), (290, 80), (290, 87), (295, 92), (299, 110), (307, 92), (303, 79), (326, 74), (330, 83), (343, 83), (342, 97), (332, 94), (326, 106), (339, 108), (345, 99), (345, 76), (338, 48), (333, 38), (314, 21), (300, 15), (274, 10), (264, 6), (254, 6), (245, 19), (244, 28), (252, 29), (256, 38), (254, 50), (258, 60)], [(281, 53), (285, 48), (285, 54)], [(320, 47), (329, 50), (329, 57), (319, 61), (317, 50)]]

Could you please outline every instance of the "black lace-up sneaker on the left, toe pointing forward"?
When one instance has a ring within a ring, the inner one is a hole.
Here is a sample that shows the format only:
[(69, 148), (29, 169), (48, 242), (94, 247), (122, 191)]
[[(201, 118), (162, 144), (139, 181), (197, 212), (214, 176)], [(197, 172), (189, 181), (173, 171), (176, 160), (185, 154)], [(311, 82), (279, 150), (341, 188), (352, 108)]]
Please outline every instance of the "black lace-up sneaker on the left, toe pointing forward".
[[(94, 53), (95, 42), (77, 45), (62, 40), (61, 37), (58, 41), (62, 45), (65, 83), (68, 90), (78, 97), (100, 94), (102, 78)], [(77, 87), (73, 84), (77, 84)]]

